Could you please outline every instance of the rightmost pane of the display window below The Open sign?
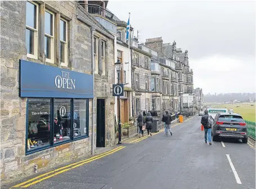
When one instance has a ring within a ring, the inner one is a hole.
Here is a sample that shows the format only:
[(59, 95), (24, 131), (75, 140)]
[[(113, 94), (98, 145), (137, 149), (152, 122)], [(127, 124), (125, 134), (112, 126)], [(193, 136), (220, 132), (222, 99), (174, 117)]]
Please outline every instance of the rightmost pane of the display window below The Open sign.
[(74, 137), (88, 135), (87, 100), (74, 100)]

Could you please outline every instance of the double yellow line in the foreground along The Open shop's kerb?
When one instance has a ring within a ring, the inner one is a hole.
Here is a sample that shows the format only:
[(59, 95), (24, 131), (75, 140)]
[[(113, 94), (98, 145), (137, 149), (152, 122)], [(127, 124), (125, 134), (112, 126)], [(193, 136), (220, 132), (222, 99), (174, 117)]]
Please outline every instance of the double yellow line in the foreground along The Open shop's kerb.
[(89, 163), (91, 161), (95, 161), (97, 159), (101, 159), (101, 158), (103, 158), (103, 157), (105, 157), (107, 155), (113, 154), (116, 151), (122, 150), (124, 148), (125, 148), (125, 146), (116, 147), (113, 150), (104, 152), (104, 153), (102, 153), (100, 155), (93, 156), (92, 158), (89, 158), (89, 159), (86, 159), (86, 160), (82, 160), (82, 161), (78, 161), (77, 163), (69, 164), (69, 165), (66, 165), (65, 167), (61, 167), (59, 169), (52, 170), (51, 172), (47, 172), (47, 173), (41, 174), (40, 176), (34, 177), (32, 179), (29, 179), (28, 181), (25, 181), (25, 182), (22, 182), (22, 183), (20, 183), (18, 185), (12, 186), (12, 188), (15, 188), (15, 187), (21, 187), (21, 188), (29, 187), (31, 185), (34, 185), (34, 184), (38, 183), (38, 182), (41, 182), (41, 181), (44, 181), (44, 180), (46, 180), (48, 178), (54, 177), (57, 174), (64, 173), (64, 172), (66, 172), (68, 170), (77, 168), (77, 167), (79, 167), (79, 166), (81, 166), (83, 164), (87, 164), (87, 163)]

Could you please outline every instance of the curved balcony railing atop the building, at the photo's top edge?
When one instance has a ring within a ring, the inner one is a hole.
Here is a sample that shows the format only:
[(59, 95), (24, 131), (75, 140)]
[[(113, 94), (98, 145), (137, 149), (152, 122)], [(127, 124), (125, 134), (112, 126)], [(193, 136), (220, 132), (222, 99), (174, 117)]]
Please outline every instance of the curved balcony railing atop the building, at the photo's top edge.
[(94, 15), (101, 15), (106, 19), (113, 21), (114, 14), (107, 11), (105, 8), (97, 4), (85, 4), (85, 3), (79, 3), (79, 4), (82, 5), (84, 9), (88, 10), (89, 13)]

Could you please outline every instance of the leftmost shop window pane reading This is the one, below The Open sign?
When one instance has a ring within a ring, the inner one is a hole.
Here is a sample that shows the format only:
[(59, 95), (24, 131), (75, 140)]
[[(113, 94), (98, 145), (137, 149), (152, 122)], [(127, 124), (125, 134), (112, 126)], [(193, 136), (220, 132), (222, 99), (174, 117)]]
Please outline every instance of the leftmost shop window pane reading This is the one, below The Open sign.
[(28, 101), (28, 151), (50, 145), (51, 100)]

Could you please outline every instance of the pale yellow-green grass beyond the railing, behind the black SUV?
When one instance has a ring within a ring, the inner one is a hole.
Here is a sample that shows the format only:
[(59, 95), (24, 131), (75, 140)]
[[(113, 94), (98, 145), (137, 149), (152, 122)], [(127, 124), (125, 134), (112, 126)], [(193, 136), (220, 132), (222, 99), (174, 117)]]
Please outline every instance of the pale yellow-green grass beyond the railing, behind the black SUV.
[(255, 122), (255, 103), (213, 105), (212, 107), (233, 109), (233, 112), (239, 113), (243, 119)]

